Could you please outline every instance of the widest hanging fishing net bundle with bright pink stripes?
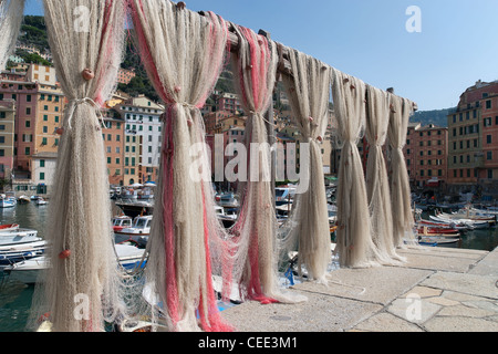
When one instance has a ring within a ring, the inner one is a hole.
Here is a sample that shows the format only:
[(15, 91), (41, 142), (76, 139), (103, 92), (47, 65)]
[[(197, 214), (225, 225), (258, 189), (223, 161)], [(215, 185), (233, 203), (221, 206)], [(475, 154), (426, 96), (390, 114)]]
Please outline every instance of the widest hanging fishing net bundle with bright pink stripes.
[(166, 103), (147, 244), (147, 312), (168, 331), (230, 330), (219, 316), (212, 289), (210, 246), (219, 244), (222, 231), (199, 112), (222, 69), (227, 23), (168, 0), (131, 0), (129, 6), (144, 65)]

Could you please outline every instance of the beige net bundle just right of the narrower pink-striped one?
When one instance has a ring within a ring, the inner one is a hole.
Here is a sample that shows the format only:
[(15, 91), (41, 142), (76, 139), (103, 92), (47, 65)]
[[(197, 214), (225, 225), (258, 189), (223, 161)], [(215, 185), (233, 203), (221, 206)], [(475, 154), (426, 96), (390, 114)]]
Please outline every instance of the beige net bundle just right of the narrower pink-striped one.
[(290, 220), (282, 228), (283, 249), (297, 250), (299, 268), (304, 266), (310, 279), (325, 282), (331, 261), (331, 237), (320, 144), (330, 122), (331, 69), (297, 50), (290, 49), (289, 58), (292, 75), (283, 75), (283, 84), (302, 136), (300, 144), (310, 144), (310, 156), (301, 154), (303, 177), (299, 181)]

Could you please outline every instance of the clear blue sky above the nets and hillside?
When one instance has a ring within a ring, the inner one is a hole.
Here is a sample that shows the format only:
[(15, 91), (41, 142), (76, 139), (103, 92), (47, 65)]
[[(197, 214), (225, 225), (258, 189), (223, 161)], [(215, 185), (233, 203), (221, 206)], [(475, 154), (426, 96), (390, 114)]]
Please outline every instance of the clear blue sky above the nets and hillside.
[[(456, 106), (476, 81), (498, 80), (497, 0), (187, 0), (344, 73), (417, 102), (421, 111)], [(409, 33), (406, 9), (422, 12)], [(27, 14), (42, 14), (41, 0)]]

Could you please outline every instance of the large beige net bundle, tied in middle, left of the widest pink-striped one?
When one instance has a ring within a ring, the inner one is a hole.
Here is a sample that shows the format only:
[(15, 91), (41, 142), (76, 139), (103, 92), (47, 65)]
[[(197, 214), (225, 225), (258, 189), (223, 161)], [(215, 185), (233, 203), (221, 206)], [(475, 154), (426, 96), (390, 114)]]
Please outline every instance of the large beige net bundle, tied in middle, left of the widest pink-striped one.
[[(77, 8), (92, 14), (84, 18), (87, 31), (74, 25)], [(104, 331), (124, 308), (98, 108), (116, 85), (125, 8), (123, 1), (45, 0), (44, 12), (69, 104), (46, 232), (50, 268), (38, 281), (31, 325), (45, 316), (54, 332)]]

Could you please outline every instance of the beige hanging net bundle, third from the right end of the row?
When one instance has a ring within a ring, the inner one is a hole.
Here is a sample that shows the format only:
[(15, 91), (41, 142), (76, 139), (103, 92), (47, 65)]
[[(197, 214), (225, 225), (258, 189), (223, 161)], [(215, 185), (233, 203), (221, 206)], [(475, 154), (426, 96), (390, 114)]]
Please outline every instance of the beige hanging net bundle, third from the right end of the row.
[(365, 127), (365, 83), (333, 69), (332, 96), (338, 147), (342, 146), (335, 253), (342, 267), (378, 266), (381, 257), (372, 241), (366, 186), (357, 149)]

